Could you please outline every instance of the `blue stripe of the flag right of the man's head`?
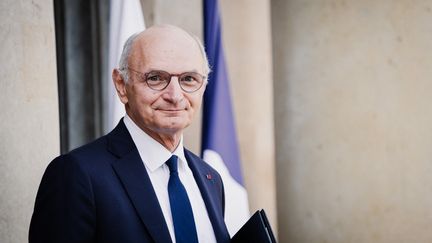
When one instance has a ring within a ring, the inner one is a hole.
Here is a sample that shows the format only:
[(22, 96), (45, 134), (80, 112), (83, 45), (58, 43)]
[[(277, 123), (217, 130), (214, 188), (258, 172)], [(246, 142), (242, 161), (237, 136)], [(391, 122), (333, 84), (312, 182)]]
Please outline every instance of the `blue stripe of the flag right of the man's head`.
[(204, 0), (204, 46), (212, 72), (204, 93), (202, 151), (219, 153), (231, 176), (243, 185), (217, 0)]

